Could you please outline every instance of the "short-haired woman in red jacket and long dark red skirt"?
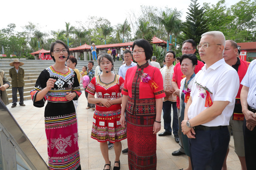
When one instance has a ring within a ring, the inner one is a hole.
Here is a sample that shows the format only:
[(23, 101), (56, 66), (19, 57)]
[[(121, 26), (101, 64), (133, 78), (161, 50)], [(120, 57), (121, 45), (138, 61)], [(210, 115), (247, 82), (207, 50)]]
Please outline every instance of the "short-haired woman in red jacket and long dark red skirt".
[(135, 40), (132, 50), (137, 66), (126, 72), (120, 119), (125, 126), (126, 110), (128, 164), (130, 170), (156, 170), (156, 133), (161, 129), (165, 97), (163, 78), (160, 70), (147, 62), (153, 53), (147, 40)]

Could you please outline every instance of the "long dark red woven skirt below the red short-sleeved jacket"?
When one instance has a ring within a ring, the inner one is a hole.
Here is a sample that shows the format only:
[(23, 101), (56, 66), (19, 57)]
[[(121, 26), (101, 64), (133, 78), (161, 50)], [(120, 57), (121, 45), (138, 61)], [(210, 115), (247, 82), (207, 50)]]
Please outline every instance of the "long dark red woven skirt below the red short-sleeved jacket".
[(156, 170), (155, 99), (137, 99), (134, 106), (128, 97), (126, 111), (129, 170)]

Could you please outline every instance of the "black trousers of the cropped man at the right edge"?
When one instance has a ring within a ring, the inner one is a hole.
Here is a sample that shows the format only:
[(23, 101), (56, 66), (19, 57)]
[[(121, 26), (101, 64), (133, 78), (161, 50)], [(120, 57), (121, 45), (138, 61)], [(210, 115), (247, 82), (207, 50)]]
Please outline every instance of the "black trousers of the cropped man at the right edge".
[(245, 162), (247, 170), (256, 168), (256, 128), (252, 131), (246, 127), (246, 120), (243, 122), (243, 137), (245, 143)]

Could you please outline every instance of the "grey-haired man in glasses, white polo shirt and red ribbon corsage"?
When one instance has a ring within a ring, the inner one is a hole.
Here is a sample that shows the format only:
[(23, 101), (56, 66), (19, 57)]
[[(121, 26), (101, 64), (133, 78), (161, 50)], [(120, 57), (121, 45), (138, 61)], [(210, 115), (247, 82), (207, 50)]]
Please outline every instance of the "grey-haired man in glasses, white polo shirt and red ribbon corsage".
[(192, 86), (182, 121), (194, 170), (220, 170), (228, 148), (227, 125), (234, 110), (239, 77), (223, 59), (224, 46), (225, 37), (219, 31), (204, 33), (197, 46), (206, 64), (195, 76), (198, 84)]

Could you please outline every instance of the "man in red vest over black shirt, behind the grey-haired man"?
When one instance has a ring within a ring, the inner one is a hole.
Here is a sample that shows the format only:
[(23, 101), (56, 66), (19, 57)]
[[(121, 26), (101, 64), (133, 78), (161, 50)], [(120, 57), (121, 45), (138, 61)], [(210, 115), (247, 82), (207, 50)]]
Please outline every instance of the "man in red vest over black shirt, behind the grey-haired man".
[[(249, 67), (250, 62), (246, 62), (244, 60), (240, 60), (237, 57), (237, 44), (236, 42), (232, 40), (226, 40), (226, 45), (224, 49), (223, 58), (226, 62), (226, 64), (232, 66), (238, 73), (239, 81), (243, 80), (243, 77), (245, 77), (246, 71)], [(242, 106), (240, 101), (240, 93), (243, 85), (240, 84), (239, 90), (236, 96), (236, 103), (233, 115), (230, 117), (228, 130), (229, 133), (233, 132), (234, 137), (234, 145), (235, 145), (235, 152), (240, 160), (241, 168), (242, 170), (246, 170), (246, 164), (245, 164), (245, 147), (244, 147), (244, 141), (243, 141), (243, 120), (244, 115), (242, 112)], [(226, 159), (228, 156), (229, 148), (226, 154), (226, 158), (224, 160), (224, 164), (222, 167), (222, 170), (227, 169), (226, 165)]]

